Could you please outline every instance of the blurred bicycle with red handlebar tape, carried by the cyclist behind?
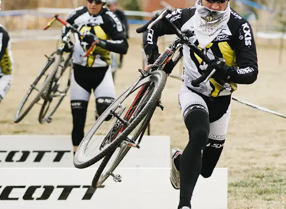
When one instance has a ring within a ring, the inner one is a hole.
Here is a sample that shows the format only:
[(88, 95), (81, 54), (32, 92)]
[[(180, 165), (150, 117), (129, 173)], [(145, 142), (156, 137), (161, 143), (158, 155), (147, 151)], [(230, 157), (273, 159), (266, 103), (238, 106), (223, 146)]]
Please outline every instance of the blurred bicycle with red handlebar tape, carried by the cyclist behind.
[[(55, 19), (53, 19), (52, 22), (49, 22), (44, 30), (48, 29), (54, 21)], [(30, 85), (29, 90), (19, 104), (14, 116), (15, 123), (20, 122), (31, 110), (34, 104), (39, 104), (41, 98), (43, 99), (43, 103), (40, 104), (41, 109), (39, 112), (38, 121), (40, 123), (50, 123), (52, 121), (52, 115), (55, 113), (64, 97), (67, 95), (70, 88), (72, 72), (71, 58), (73, 50), (72, 42), (70, 42), (70, 35), (71, 33), (69, 32), (63, 37), (61, 44), (55, 52), (51, 53), (50, 56), (45, 55), (48, 60), (34, 82)], [(71, 49), (71, 51), (67, 53), (67, 57), (64, 56), (64, 49), (66, 47)], [(50, 72), (48, 72), (49, 70)], [(66, 79), (66, 77), (68, 77), (68, 79), (65, 83), (63, 83), (62, 80)], [(61, 84), (64, 85), (61, 86)], [(32, 102), (27, 104), (28, 99), (34, 92), (36, 92), (36, 95), (32, 99)], [(58, 101), (53, 106), (51, 104), (54, 98), (58, 98)], [(27, 105), (25, 106), (25, 104)]]

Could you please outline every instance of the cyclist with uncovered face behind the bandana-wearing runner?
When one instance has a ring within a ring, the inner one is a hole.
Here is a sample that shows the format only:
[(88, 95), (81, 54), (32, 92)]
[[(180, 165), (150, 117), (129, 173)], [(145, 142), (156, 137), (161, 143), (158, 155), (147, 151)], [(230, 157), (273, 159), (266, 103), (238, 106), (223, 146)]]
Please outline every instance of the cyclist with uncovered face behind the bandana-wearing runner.
[[(92, 90), (96, 98), (98, 114), (96, 118), (115, 98), (110, 69), (110, 51), (126, 54), (128, 50), (124, 27), (117, 16), (103, 6), (105, 3), (106, 0), (87, 0), (87, 6), (76, 8), (67, 19), (67, 22), (75, 24), (79, 31), (86, 34), (81, 39), (75, 33), (72, 57), (74, 72), (71, 80), (71, 108), (74, 151), (77, 150), (84, 137), (88, 102)], [(62, 36), (67, 32), (67, 29), (63, 27)], [(94, 41), (96, 45), (92, 54), (84, 57)]]

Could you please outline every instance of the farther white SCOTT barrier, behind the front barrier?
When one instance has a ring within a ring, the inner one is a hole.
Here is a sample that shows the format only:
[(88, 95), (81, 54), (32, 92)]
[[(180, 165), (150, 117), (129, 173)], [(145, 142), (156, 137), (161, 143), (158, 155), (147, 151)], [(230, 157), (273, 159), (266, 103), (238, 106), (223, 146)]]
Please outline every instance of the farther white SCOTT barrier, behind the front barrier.
[[(0, 168), (19, 167), (74, 167), (71, 136), (0, 135)], [(170, 137), (143, 136), (140, 149), (131, 148), (118, 167), (170, 167)]]

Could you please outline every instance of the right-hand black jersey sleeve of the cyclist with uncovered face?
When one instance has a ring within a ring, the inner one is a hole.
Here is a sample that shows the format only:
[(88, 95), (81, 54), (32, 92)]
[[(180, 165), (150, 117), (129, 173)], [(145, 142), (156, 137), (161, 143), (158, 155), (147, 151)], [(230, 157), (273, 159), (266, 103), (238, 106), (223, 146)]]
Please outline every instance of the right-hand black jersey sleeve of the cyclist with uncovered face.
[(126, 54), (128, 50), (128, 42), (126, 39), (125, 29), (112, 11), (106, 11), (104, 18), (103, 30), (111, 38), (111, 40), (102, 40), (105, 42), (105, 49), (118, 54)]

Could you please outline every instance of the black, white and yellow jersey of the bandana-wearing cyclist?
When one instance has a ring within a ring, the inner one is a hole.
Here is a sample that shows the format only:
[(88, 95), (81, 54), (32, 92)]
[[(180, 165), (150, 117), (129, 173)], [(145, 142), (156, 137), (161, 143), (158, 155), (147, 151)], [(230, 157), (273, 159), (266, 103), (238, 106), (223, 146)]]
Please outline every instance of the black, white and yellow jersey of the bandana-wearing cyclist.
[[(168, 14), (167, 18), (181, 30), (191, 30), (194, 33), (191, 40), (195, 45), (199, 46), (196, 34), (193, 30), (195, 9), (195, 6), (190, 8), (178, 8), (174, 10), (172, 14)], [(171, 28), (166, 26), (162, 21), (155, 24), (149, 31), (145, 31), (143, 34), (145, 51), (149, 49), (158, 50), (158, 37), (165, 34), (174, 33)], [(149, 49), (146, 50), (147, 48)], [(231, 88), (224, 87), (225, 81), (215, 80), (213, 78), (206, 84), (201, 83), (199, 87), (193, 87), (191, 81), (201, 76), (202, 71), (207, 68), (207, 64), (193, 53), (189, 46), (183, 46), (184, 73), (182, 75), (182, 81), (193, 91), (208, 97), (225, 96), (235, 91), (237, 84), (251, 84), (257, 79), (257, 52), (252, 28), (249, 22), (233, 9), (231, 9), (231, 15), (227, 25), (225, 25), (221, 32), (205, 49), (209, 52), (206, 52), (206, 55), (210, 59), (215, 59), (214, 55), (219, 58), (224, 58), (226, 64), (228, 66), (236, 66), (237, 71), (231, 76), (232, 82), (228, 82)]]

